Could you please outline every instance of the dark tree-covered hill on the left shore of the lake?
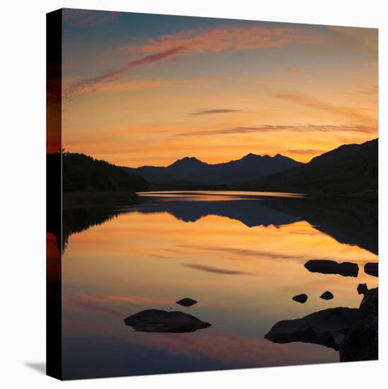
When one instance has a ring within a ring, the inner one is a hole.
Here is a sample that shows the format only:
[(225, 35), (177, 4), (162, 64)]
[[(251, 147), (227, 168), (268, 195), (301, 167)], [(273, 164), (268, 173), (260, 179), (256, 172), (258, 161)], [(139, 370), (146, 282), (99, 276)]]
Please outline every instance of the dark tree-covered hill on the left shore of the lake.
[[(60, 157), (61, 154), (57, 153), (50, 158)], [(137, 192), (147, 189), (143, 177), (128, 174), (112, 163), (80, 153), (62, 154), (63, 192)]]

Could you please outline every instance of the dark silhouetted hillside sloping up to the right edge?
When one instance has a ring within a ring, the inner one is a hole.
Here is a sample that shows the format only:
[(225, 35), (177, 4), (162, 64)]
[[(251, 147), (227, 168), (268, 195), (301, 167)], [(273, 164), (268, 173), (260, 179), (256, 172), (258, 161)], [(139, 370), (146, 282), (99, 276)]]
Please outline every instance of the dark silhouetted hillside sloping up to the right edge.
[(254, 190), (321, 192), (323, 194), (377, 194), (378, 140), (346, 144), (312, 158), (310, 163), (266, 175)]

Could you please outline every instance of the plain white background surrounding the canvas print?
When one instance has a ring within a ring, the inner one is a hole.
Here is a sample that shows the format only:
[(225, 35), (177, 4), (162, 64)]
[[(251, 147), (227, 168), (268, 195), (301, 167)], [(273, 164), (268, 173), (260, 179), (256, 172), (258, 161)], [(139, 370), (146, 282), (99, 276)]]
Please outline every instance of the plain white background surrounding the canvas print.
[[(381, 388), (387, 357), (387, 72), (384, 0), (40, 0), (1, 5), (0, 383), (3, 388)], [(380, 361), (60, 383), (45, 363), (45, 13), (57, 8), (380, 28)], [(384, 241), (385, 240), (385, 241)]]

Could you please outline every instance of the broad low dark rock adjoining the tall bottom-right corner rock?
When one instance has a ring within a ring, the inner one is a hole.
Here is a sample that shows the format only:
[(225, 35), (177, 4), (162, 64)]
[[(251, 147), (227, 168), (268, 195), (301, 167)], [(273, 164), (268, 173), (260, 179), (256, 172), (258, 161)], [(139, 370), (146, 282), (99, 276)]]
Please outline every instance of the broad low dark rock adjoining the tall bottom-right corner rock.
[(346, 332), (357, 319), (357, 308), (339, 307), (319, 310), (304, 318), (276, 323), (265, 338), (275, 343), (322, 344), (338, 351)]

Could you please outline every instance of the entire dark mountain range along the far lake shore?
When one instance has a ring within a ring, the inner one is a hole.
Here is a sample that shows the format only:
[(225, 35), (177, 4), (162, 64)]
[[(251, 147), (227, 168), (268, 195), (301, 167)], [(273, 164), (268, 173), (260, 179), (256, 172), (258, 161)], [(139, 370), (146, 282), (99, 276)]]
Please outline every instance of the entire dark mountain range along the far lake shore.
[[(48, 176), (62, 165), (63, 192), (142, 192), (146, 190), (259, 190), (324, 196), (377, 198), (378, 139), (344, 144), (300, 163), (252, 153), (236, 161), (209, 164), (194, 157), (167, 167), (123, 168), (80, 153), (47, 156)], [(60, 185), (59, 185), (60, 187)]]

